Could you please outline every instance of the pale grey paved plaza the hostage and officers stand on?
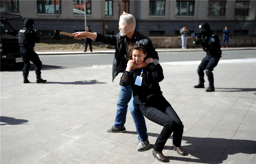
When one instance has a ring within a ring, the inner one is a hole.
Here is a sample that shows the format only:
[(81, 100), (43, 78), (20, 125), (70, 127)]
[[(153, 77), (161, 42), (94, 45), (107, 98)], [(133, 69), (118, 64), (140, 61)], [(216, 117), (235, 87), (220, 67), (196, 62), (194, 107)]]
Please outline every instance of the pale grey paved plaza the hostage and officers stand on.
[[(173, 151), (170, 137), (164, 155), (169, 163), (256, 163), (255, 59), (220, 60), (212, 93), (193, 88), (199, 63), (161, 63), (160, 86), (184, 124), (187, 153)], [(30, 84), (22, 83), (20, 71), (0, 72), (0, 163), (161, 163), (151, 155), (160, 125), (146, 119), (150, 146), (144, 152), (136, 151), (130, 112), (126, 132), (105, 132), (120, 89), (121, 74), (112, 83), (112, 65), (44, 68), (46, 84), (35, 83), (33, 69)]]

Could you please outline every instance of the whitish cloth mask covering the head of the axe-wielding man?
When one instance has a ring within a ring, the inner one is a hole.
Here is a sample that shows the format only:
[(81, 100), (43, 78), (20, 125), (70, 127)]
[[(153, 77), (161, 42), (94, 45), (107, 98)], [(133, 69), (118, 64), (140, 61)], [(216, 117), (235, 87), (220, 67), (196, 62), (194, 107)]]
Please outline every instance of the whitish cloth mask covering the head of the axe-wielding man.
[(119, 19), (119, 31), (121, 36), (126, 36), (127, 33), (135, 30), (136, 21), (131, 14), (123, 13)]

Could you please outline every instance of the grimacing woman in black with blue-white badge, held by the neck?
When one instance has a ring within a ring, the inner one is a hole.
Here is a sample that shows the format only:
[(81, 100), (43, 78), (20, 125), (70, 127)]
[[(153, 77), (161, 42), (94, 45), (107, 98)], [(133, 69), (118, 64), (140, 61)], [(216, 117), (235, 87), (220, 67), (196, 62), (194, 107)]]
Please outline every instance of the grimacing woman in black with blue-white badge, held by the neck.
[(152, 155), (161, 162), (167, 162), (162, 151), (167, 139), (173, 132), (173, 149), (180, 155), (185, 155), (181, 148), (183, 124), (172, 106), (164, 98), (159, 82), (164, 79), (163, 69), (160, 64), (155, 65), (152, 58), (145, 62), (148, 68), (131, 70), (133, 64), (140, 64), (147, 56), (146, 48), (141, 43), (129, 45), (129, 58), (120, 85), (132, 87), (134, 102), (139, 106), (142, 114), (149, 120), (164, 126), (159, 137), (156, 139)]

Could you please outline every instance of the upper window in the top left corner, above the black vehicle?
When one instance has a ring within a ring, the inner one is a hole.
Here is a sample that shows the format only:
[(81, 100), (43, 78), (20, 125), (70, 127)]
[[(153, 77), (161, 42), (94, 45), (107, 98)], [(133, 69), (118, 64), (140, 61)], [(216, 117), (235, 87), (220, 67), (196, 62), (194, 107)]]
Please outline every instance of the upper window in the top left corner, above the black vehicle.
[(1, 0), (1, 12), (19, 12), (19, 1)]

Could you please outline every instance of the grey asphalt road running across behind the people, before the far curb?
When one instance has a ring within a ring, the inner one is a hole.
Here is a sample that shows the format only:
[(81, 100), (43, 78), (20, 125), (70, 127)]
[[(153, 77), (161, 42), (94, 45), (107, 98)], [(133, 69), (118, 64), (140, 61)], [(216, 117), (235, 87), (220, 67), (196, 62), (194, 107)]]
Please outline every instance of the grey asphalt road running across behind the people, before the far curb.
[[(201, 61), (205, 56), (204, 51), (176, 51), (176, 52), (158, 52), (160, 62), (183, 62), (183, 61)], [(42, 69), (59, 68), (79, 68), (91, 67), (93, 65), (112, 64), (114, 54), (80, 54), (80, 55), (40, 55), (43, 63)], [(222, 51), (221, 60), (228, 59), (251, 59), (256, 58), (255, 50), (226, 50)], [(31, 64), (30, 69), (34, 69)], [(14, 65), (1, 63), (1, 71), (18, 71)]]

